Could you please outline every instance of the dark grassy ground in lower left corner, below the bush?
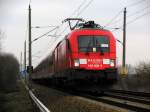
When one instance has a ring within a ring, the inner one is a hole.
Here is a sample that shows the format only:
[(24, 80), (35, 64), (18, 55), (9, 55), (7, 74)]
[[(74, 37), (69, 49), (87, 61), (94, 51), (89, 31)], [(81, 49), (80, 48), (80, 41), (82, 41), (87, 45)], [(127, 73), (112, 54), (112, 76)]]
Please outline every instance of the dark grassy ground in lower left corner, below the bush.
[(13, 91), (0, 92), (0, 112), (33, 112), (32, 102), (20, 81)]

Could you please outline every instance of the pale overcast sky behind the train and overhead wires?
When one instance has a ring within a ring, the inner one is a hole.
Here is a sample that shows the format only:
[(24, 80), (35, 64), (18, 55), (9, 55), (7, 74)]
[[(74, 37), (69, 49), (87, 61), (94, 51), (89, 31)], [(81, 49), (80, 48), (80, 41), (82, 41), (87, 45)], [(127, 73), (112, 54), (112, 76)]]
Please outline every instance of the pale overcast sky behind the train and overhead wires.
[[(127, 6), (127, 23), (131, 21), (127, 25), (127, 64), (150, 62), (150, 0), (93, 0), (88, 5), (89, 1), (91, 0), (32, 0), (32, 26), (57, 26), (65, 18), (77, 17), (78, 14), (78, 17), (94, 20), (105, 26), (120, 12), (108, 26), (120, 27), (123, 23), (123, 8)], [(23, 51), (24, 40), (27, 40), (28, 36), (28, 4), (29, 0), (0, 0), (0, 29), (5, 33), (3, 51), (14, 54), (18, 60), (20, 52)], [(66, 24), (63, 24), (57, 34), (60, 34), (65, 26)], [(49, 30), (49, 27), (32, 28), (32, 40)], [(68, 31), (69, 28), (61, 35), (67, 34)], [(122, 30), (113, 32), (121, 41), (122, 33)], [(45, 36), (33, 43), (33, 65), (39, 63), (50, 52), (55, 40), (55, 37)], [(117, 57), (118, 63), (121, 64), (120, 43), (117, 43)]]

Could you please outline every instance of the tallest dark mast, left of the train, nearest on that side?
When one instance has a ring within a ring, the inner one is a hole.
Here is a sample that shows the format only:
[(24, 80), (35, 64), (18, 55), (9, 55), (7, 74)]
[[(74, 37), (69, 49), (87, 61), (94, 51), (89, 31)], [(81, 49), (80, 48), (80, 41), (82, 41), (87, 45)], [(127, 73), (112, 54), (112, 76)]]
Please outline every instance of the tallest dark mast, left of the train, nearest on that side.
[[(31, 74), (32, 74), (32, 48), (31, 48), (31, 8), (29, 4), (29, 66), (28, 66), (28, 73), (29, 73), (29, 83), (31, 82)], [(31, 84), (29, 84), (29, 88), (31, 88)]]

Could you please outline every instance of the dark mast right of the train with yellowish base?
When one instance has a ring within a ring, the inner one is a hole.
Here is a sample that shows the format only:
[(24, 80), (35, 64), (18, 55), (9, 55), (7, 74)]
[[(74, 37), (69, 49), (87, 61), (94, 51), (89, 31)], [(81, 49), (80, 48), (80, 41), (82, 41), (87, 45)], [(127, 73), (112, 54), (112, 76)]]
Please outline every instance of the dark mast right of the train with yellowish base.
[(122, 75), (126, 75), (126, 8), (124, 8), (123, 17), (123, 57), (122, 57)]

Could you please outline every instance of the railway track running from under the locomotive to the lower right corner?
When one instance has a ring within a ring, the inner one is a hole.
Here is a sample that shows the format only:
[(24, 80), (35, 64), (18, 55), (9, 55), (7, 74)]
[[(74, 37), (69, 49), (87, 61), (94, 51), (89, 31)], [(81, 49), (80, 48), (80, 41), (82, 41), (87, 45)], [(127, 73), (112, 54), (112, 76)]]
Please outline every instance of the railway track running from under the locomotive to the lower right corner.
[(97, 91), (97, 89), (90, 92), (82, 89), (72, 89), (63, 87), (51, 87), (58, 91), (68, 93), (75, 96), (91, 99), (98, 102), (103, 102), (116, 107), (135, 112), (150, 112), (150, 93), (133, 92), (124, 90), (103, 90), (104, 92)]

